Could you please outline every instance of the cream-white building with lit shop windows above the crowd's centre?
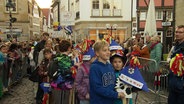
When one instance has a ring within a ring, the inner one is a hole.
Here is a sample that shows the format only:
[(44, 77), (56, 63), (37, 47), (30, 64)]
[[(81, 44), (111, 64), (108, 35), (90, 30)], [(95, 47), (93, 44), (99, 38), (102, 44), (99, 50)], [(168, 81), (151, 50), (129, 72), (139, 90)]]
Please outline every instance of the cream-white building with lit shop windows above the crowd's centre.
[(53, 20), (64, 27), (67, 24), (63, 24), (62, 13), (70, 12), (75, 15), (74, 23), (69, 23), (74, 39), (98, 40), (110, 34), (123, 42), (131, 36), (131, 3), (132, 0), (53, 0)]

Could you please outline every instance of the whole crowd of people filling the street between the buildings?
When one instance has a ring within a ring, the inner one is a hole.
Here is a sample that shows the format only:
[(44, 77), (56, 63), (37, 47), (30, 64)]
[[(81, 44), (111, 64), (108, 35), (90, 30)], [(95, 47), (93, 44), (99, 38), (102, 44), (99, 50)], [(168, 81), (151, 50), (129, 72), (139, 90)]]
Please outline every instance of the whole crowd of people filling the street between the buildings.
[[(178, 44), (171, 58), (178, 53), (184, 54), (180, 50), (183, 49), (184, 35), (180, 34), (184, 34), (184, 26), (176, 29)], [(32, 80), (37, 86), (36, 104), (122, 104), (125, 94), (115, 90), (115, 83), (130, 57), (155, 60), (157, 66), (150, 65), (150, 70), (159, 69), (162, 59), (160, 38), (145, 38), (144, 42), (141, 34), (136, 34), (135, 38), (127, 39), (124, 44), (118, 44), (113, 39), (110, 42), (103, 39), (75, 43), (70, 39), (50, 38), (49, 33), (44, 32), (40, 41), (17, 42), (12, 39), (1, 42), (0, 98), (8, 92), (11, 81), (20, 79), (18, 72), (22, 68), (22, 59), (27, 57), (29, 67), (26, 73), (29, 77), (37, 78), (36, 81)], [(113, 42), (115, 47), (112, 46)], [(38, 77), (33, 76), (33, 72)], [(174, 101), (178, 101), (177, 104), (182, 104), (184, 84), (175, 90), (173, 82), (183, 77), (176, 77), (172, 71), (170, 73), (168, 102), (174, 104)], [(181, 80), (178, 82), (184, 83)], [(128, 103), (133, 104), (133, 98), (128, 99)]]

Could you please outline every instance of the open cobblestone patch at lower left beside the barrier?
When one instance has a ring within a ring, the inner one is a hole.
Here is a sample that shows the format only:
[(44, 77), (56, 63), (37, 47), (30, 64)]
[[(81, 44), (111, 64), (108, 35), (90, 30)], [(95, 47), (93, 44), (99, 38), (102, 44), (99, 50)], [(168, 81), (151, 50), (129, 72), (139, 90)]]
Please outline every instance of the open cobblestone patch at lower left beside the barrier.
[(35, 104), (34, 84), (27, 78), (11, 88), (10, 94), (5, 95), (0, 104)]

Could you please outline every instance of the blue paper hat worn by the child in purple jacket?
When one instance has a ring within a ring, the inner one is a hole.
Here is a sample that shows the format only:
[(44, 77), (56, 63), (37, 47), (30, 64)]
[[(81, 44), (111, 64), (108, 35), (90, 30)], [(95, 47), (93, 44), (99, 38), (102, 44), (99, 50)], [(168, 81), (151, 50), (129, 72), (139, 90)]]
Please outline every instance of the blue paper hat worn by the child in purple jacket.
[(88, 51), (83, 54), (82, 60), (90, 60), (94, 56), (95, 56), (94, 50), (92, 49), (92, 47), (89, 47)]

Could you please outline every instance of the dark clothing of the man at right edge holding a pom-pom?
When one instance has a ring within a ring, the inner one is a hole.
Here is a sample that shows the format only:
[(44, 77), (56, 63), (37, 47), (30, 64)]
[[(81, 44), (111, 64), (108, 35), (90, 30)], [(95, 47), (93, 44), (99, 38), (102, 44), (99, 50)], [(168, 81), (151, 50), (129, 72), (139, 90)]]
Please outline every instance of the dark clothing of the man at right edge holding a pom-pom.
[[(176, 54), (184, 55), (184, 42), (176, 44), (171, 52), (171, 58)], [(184, 76), (177, 76), (172, 71), (169, 73), (168, 104), (184, 104)]]

